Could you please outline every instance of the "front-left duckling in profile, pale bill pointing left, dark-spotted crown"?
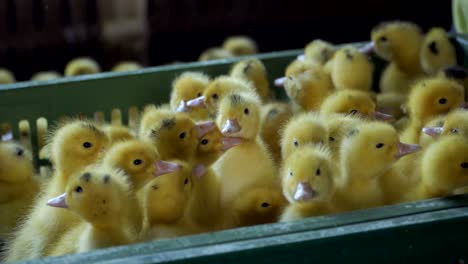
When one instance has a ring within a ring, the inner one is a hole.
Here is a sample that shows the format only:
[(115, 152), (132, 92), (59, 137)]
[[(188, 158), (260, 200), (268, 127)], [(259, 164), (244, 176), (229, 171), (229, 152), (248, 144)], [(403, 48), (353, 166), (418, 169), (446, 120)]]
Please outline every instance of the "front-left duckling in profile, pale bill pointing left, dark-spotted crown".
[[(52, 246), (48, 255), (87, 252), (125, 245), (137, 239), (132, 225), (133, 207), (138, 201), (128, 176), (121, 170), (91, 166), (73, 176), (65, 193), (50, 199), (47, 205), (65, 208), (78, 215), (80, 223), (67, 230)], [(140, 218), (141, 224), (141, 218)]]

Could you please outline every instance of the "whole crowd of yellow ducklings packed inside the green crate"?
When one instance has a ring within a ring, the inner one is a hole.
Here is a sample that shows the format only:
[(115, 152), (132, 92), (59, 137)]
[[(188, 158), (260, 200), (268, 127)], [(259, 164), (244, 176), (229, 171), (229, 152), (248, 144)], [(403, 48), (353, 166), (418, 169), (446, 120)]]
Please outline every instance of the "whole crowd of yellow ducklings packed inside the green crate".
[[(370, 52), (389, 62), (380, 93)], [(388, 22), (365, 47), (308, 44), (275, 82), (288, 102), (246, 59), (214, 79), (178, 76), (138, 131), (64, 121), (46, 148), (50, 179), (1, 143), (6, 260), (464, 193), (466, 77), (443, 29)]]

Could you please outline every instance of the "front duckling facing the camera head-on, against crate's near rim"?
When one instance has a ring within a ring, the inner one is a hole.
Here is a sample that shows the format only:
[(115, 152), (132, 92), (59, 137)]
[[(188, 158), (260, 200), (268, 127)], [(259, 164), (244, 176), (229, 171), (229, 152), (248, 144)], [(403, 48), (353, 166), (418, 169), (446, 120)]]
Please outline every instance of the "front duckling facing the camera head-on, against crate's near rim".
[(281, 169), (283, 193), (289, 201), (281, 221), (329, 213), (336, 173), (324, 146), (304, 145), (291, 154)]

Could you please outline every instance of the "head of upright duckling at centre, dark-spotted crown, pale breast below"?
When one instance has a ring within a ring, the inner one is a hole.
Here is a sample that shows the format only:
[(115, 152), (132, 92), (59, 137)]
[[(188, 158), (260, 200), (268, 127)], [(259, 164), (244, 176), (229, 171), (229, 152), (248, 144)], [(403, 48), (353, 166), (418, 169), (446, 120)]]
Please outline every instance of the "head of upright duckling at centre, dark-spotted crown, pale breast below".
[(260, 130), (260, 106), (260, 99), (252, 92), (234, 92), (224, 97), (216, 120), (221, 133), (254, 140)]

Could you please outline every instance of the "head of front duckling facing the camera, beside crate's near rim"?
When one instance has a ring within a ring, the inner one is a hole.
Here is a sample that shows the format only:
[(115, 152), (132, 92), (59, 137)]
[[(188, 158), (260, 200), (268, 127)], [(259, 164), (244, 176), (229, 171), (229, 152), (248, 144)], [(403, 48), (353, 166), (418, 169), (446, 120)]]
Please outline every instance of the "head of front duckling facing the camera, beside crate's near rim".
[(328, 149), (304, 145), (283, 164), (283, 194), (290, 203), (329, 199), (334, 186), (334, 173)]

